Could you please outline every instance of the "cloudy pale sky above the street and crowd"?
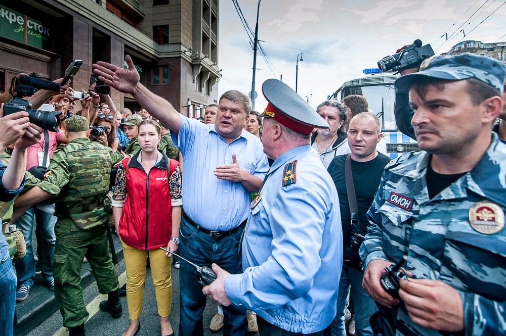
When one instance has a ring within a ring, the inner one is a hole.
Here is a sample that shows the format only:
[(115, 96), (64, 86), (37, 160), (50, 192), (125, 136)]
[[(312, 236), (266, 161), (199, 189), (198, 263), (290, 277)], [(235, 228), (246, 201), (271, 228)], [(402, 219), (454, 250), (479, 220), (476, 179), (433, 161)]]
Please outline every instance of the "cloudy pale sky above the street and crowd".
[[(238, 3), (255, 31), (258, 2)], [(220, 0), (219, 14), (219, 66), (223, 69), (219, 95), (229, 89), (247, 94), (253, 63), (248, 35), (232, 0)], [(364, 76), (363, 69), (377, 67), (379, 59), (415, 39), (430, 43), (436, 55), (463, 40), (506, 41), (504, 0), (262, 0), (259, 17), (259, 40), (272, 64), (271, 70), (257, 54), (255, 107), (262, 112), (267, 104), (262, 83), (283, 75), (283, 82), (295, 89), (301, 52), (298, 92), (305, 99), (312, 94), (309, 103), (316, 108), (345, 81)], [(466, 37), (459, 32), (462, 28)], [(445, 33), (448, 41), (440, 38)]]

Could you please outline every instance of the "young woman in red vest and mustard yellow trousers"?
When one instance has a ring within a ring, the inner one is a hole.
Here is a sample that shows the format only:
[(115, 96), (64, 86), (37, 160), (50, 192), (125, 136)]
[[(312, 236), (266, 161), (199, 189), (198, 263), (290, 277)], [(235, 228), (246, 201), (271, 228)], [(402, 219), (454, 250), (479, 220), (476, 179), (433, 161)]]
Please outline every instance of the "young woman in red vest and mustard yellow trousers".
[(137, 334), (142, 309), (146, 259), (149, 255), (162, 335), (173, 335), (171, 313), (171, 258), (160, 247), (176, 251), (181, 221), (181, 177), (178, 161), (157, 149), (160, 126), (153, 120), (139, 123), (141, 150), (118, 167), (113, 215), (123, 245), (126, 266), (126, 303), (130, 325), (123, 336)]

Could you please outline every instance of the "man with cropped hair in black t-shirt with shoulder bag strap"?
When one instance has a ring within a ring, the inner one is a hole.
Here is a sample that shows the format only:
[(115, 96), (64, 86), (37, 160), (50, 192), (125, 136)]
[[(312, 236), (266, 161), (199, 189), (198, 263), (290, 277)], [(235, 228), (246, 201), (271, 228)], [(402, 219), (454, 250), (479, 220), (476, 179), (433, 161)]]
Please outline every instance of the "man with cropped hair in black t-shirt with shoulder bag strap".
[(347, 155), (336, 156), (328, 166), (328, 172), (338, 189), (343, 225), (343, 271), (339, 280), (337, 315), (332, 323), (332, 335), (346, 336), (345, 308), (348, 292), (355, 300), (356, 332), (372, 335), (370, 316), (376, 312), (376, 304), (362, 289), (362, 261), (358, 254), (363, 237), (367, 233), (367, 210), (376, 194), (383, 170), (390, 158), (376, 151), (381, 139), (378, 118), (369, 112), (355, 115), (348, 127), (348, 144), (351, 149), (351, 170), (358, 208), (358, 225), (351, 224), (348, 190), (346, 188), (345, 162)]

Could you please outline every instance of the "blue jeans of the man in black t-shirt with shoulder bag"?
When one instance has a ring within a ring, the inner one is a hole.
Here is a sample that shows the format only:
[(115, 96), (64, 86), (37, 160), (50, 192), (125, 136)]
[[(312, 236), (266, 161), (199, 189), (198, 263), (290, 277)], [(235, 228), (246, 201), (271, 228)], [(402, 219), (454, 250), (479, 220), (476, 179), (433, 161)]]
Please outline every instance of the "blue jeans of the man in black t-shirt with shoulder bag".
[(350, 299), (353, 297), (355, 301), (356, 336), (373, 335), (369, 318), (377, 311), (377, 306), (362, 288), (363, 277), (364, 272), (343, 263), (343, 270), (339, 279), (338, 313), (332, 322), (332, 336), (346, 336), (345, 310), (348, 293), (350, 293)]

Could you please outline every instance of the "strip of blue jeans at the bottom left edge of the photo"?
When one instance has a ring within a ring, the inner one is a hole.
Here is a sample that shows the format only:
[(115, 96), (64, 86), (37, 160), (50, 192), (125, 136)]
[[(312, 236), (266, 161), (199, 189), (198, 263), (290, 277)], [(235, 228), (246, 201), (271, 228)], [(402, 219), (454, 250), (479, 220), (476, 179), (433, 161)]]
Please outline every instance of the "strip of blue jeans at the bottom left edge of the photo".
[(0, 336), (12, 336), (14, 332), (14, 309), (16, 307), (16, 274), (12, 268), (7, 244), (0, 233)]

